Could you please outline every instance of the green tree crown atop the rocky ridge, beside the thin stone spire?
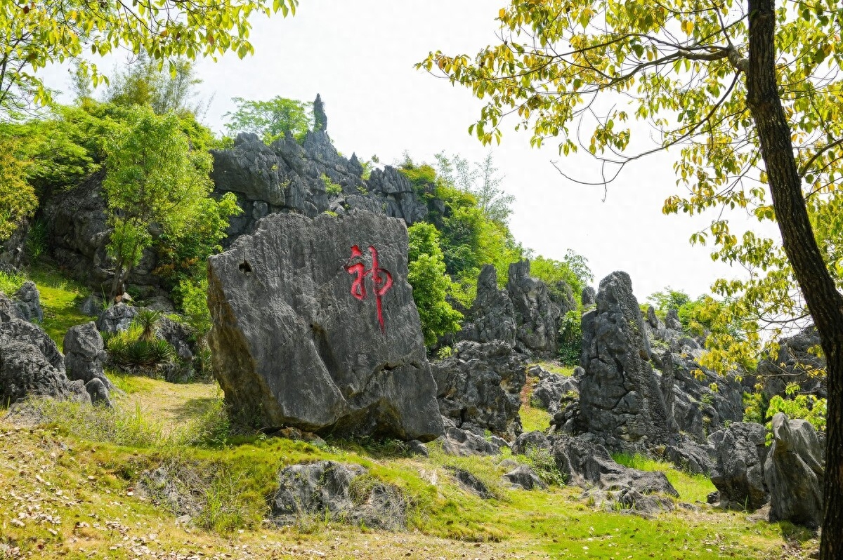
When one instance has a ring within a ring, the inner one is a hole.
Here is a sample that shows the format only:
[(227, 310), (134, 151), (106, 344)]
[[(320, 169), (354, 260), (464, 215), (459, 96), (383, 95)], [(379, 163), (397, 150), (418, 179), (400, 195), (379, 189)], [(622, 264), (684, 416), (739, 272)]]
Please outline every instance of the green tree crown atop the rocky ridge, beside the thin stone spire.
[(302, 141), (307, 131), (314, 128), (314, 104), (280, 95), (269, 101), (255, 101), (235, 97), (234, 113), (226, 113), (228, 134), (254, 132), (266, 144), (283, 138), (288, 132)]

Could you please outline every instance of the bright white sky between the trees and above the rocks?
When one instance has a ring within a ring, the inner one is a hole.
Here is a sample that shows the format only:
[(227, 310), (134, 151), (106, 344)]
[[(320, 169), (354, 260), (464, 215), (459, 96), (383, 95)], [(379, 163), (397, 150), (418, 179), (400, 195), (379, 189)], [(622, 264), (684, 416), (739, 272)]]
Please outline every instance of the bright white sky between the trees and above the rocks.
[[(250, 35), (255, 56), (197, 64), (204, 81), (200, 95), (211, 99), (206, 124), (223, 131), (233, 97), (310, 101), (320, 93), (328, 133), (348, 157), (376, 154), (382, 163), (394, 163), (407, 151), (416, 162), (432, 163), (433, 154), (444, 150), (479, 161), (488, 148), (467, 129), (481, 101), (413, 65), (428, 51), (473, 54), (491, 44), (502, 5), (503, 0), (301, 0), (292, 18), (255, 18)], [(567, 248), (583, 254), (595, 286), (611, 271), (625, 270), (640, 301), (667, 285), (697, 296), (717, 277), (739, 274), (712, 263), (707, 248), (690, 246), (690, 234), (706, 221), (663, 216), (663, 200), (677, 192), (668, 157), (628, 166), (603, 202), (602, 187), (572, 184), (550, 165), (560, 159), (556, 144), (536, 150), (512, 126), (503, 131), (502, 145), (492, 152), (505, 175), (502, 188), (516, 197), (510, 226), (525, 247), (552, 259), (561, 259)], [(585, 179), (598, 173), (588, 157), (560, 165)]]

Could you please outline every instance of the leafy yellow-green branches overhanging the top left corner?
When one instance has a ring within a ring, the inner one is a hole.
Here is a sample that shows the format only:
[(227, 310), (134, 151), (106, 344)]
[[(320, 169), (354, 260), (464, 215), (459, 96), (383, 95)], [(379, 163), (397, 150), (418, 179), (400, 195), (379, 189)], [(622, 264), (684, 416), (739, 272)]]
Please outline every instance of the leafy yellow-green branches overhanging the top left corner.
[[(180, 0), (53, 0), (0, 3), (0, 109), (46, 104), (51, 94), (38, 76), (48, 64), (88, 53), (106, 55), (119, 47), (144, 52), (175, 73), (178, 59), (218, 56), (234, 51), (241, 58), (254, 13), (294, 13), (298, 0), (181, 2)], [(93, 63), (81, 62), (94, 85), (103, 76)]]

